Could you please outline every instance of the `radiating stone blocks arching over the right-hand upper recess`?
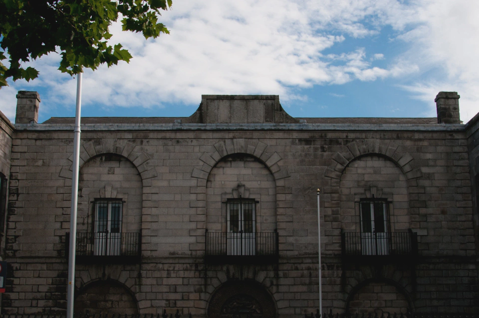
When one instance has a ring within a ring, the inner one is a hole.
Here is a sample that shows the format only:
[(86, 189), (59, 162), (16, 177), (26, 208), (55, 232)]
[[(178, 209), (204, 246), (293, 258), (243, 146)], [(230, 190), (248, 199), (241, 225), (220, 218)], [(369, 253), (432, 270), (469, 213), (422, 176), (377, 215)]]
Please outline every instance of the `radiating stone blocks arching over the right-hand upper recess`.
[(415, 183), (415, 179), (422, 176), (419, 168), (413, 169), (411, 166), (413, 157), (409, 153), (398, 152), (399, 146), (393, 142), (367, 140), (361, 143), (352, 142), (346, 147), (348, 152), (338, 152), (333, 156), (334, 162), (326, 168), (325, 176), (340, 179), (344, 169), (351, 161), (367, 155), (380, 155), (392, 160), (406, 175), (408, 183)]

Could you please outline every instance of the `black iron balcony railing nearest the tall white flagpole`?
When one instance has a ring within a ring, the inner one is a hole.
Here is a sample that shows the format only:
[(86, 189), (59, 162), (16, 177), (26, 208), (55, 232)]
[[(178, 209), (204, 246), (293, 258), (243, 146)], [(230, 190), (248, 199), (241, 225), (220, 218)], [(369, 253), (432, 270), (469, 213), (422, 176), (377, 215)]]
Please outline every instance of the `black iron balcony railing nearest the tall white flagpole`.
[[(66, 233), (66, 256), (70, 246), (70, 233)], [(118, 260), (139, 261), (141, 233), (77, 232), (76, 259), (78, 261)]]

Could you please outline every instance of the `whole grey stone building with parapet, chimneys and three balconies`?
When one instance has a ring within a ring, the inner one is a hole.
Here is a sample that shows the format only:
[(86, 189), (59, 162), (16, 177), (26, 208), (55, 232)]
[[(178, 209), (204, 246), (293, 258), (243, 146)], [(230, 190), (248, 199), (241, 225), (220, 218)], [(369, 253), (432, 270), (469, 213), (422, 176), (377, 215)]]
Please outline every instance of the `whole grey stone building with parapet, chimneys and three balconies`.
[[(1, 120), (5, 313), (63, 312), (74, 119)], [(478, 311), (479, 117), (292, 118), (204, 95), (188, 118), (83, 118), (76, 311), (304, 317)]]

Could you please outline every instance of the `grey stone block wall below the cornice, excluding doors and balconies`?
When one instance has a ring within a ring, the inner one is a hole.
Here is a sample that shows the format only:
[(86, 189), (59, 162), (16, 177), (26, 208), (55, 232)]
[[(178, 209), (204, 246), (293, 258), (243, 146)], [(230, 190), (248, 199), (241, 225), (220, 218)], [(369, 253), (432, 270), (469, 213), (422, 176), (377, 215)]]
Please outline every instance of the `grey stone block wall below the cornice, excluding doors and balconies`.
[[(82, 131), (79, 227), (102, 191), (127, 193), (124, 226), (141, 228), (143, 257), (136, 265), (78, 265), (80, 294), (92, 282), (114, 280), (131, 291), (141, 314), (180, 308), (205, 317), (216, 288), (249, 279), (272, 295), (279, 317), (315, 311), (319, 187), (324, 308), (353, 310), (371, 290), (380, 298), (393, 287), (402, 296), (388, 308), (404, 299), (418, 311), (477, 308), (464, 132)], [(71, 151), (72, 133), (16, 132), (6, 312), (64, 309)], [(122, 159), (102, 159), (107, 154)], [(261, 229), (278, 230), (277, 266), (204, 264), (205, 230), (224, 230), (220, 202), (234, 197), (239, 183), (260, 201)], [(371, 193), (391, 199), (392, 231), (419, 234), (416, 268), (390, 264), (377, 271), (341, 262), (341, 229), (358, 231), (356, 202)]]

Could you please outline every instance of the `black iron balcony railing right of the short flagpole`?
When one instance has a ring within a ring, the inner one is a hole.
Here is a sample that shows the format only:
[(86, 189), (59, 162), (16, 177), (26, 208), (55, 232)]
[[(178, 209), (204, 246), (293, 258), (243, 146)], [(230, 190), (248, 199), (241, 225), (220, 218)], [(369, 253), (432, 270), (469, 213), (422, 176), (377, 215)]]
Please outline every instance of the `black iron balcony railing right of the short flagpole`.
[(417, 233), (342, 233), (343, 256), (415, 256)]

